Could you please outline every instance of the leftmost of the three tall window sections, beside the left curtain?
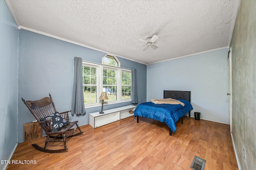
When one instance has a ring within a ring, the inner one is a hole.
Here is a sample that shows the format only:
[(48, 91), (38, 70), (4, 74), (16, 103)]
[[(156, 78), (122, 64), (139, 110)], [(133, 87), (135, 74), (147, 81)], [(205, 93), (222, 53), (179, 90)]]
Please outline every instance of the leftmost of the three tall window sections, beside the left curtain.
[(84, 80), (84, 104), (97, 104), (97, 67), (83, 65), (83, 80)]

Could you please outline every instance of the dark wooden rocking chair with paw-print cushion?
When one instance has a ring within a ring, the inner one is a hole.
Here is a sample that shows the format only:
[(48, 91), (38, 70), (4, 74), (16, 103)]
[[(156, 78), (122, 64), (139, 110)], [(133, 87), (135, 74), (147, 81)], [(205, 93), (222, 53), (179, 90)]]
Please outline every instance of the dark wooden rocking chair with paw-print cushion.
[[(41, 100), (36, 101), (25, 101), (23, 98), (22, 101), (28, 107), (29, 111), (34, 115), (38, 123), (41, 125), (42, 129), (44, 129), (46, 133), (46, 141), (44, 148), (32, 144), (32, 146), (42, 152), (48, 153), (58, 153), (68, 150), (66, 147), (66, 139), (68, 137), (73, 137), (75, 135), (79, 135), (83, 133), (78, 126), (78, 121), (70, 122), (68, 118), (68, 112), (65, 111), (63, 113), (58, 113), (52, 101), (52, 96), (49, 93), (49, 97), (42, 98)], [(76, 128), (72, 128), (76, 125), (79, 132), (73, 134), (75, 131), (71, 132), (67, 136), (65, 133), (70, 130), (75, 130)], [(51, 138), (49, 140), (49, 138)], [(57, 139), (57, 140), (55, 140)], [(48, 142), (62, 142), (64, 143), (64, 149), (51, 150), (46, 149), (46, 145)]]

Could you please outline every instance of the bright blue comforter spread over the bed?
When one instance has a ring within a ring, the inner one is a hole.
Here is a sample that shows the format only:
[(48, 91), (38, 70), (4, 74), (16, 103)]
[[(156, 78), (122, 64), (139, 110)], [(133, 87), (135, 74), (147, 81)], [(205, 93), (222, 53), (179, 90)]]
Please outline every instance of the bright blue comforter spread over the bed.
[(153, 102), (146, 102), (139, 104), (136, 107), (134, 110), (134, 117), (142, 116), (164, 122), (173, 132), (175, 132), (175, 122), (193, 109), (192, 105), (187, 100), (176, 100), (184, 103), (185, 106), (180, 104), (154, 104)]

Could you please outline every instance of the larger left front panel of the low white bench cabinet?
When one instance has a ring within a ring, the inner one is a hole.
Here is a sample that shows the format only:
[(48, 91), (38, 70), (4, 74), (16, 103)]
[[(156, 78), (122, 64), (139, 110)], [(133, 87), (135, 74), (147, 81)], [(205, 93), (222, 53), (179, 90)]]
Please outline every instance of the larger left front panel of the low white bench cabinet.
[(108, 123), (112, 123), (114, 121), (120, 120), (120, 111), (114, 112), (114, 113), (109, 113), (106, 115), (94, 117), (95, 119), (95, 128), (100, 127), (103, 125), (106, 125)]

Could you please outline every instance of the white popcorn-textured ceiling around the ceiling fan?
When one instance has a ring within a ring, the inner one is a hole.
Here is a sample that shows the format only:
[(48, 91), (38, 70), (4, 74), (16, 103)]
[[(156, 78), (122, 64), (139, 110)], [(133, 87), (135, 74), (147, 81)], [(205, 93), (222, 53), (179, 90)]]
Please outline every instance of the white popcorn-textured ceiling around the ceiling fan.
[[(236, 0), (6, 0), (18, 26), (143, 64), (229, 46)], [(146, 51), (146, 39), (158, 35)]]

